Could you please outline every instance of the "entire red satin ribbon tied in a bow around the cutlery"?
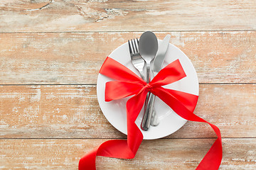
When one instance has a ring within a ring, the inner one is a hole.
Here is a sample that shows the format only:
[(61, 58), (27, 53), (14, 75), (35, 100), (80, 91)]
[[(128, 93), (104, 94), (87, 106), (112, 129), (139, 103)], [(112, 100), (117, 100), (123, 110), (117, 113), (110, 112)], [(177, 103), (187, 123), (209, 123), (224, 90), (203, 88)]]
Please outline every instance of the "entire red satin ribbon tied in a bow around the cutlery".
[[(158, 96), (182, 118), (195, 122), (208, 123), (206, 120), (193, 114), (198, 96), (161, 87), (186, 77), (179, 60), (171, 62), (171, 64), (164, 67), (164, 69), (161, 69), (159, 74), (156, 74), (156, 77), (154, 77), (149, 84), (146, 84), (146, 82), (134, 74), (134, 72), (110, 57), (107, 57), (104, 64), (102, 64), (100, 74), (117, 80), (106, 83), (105, 101), (118, 100), (132, 96), (132, 98), (129, 98), (127, 101), (126, 107), (127, 140), (109, 140), (102, 143), (102, 145), (88, 152), (80, 159), (78, 165), (79, 170), (95, 170), (96, 156), (121, 159), (132, 159), (135, 157), (139, 145), (142, 143), (143, 135), (134, 122), (139, 112), (142, 110), (146, 94), (149, 91)], [(208, 124), (213, 128), (218, 138), (196, 168), (197, 170), (216, 170), (219, 168), (223, 157), (220, 130), (217, 126), (211, 123)]]

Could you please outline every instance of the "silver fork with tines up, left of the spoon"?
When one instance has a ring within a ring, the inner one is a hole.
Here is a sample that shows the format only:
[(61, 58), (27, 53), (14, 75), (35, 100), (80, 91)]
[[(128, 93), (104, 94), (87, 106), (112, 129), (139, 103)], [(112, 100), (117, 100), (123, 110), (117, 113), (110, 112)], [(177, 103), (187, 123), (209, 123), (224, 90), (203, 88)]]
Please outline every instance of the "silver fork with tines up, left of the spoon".
[[(138, 38), (135, 39), (131, 39), (131, 41), (128, 40), (128, 45), (129, 45), (129, 52), (130, 52), (130, 56), (132, 59), (132, 64), (134, 65), (134, 67), (139, 71), (140, 76), (142, 77), (142, 79), (144, 81), (146, 81), (146, 77), (144, 75), (143, 72), (143, 68), (145, 65), (145, 60), (142, 58), (142, 56), (139, 54), (139, 40)], [(145, 108), (146, 105), (148, 103), (149, 100), (149, 95), (146, 95), (146, 104), (145, 104)], [(157, 115), (155, 114), (154, 110), (153, 110), (153, 115), (152, 116), (152, 121), (151, 121), (151, 125), (156, 126), (159, 123), (159, 118), (157, 117)]]

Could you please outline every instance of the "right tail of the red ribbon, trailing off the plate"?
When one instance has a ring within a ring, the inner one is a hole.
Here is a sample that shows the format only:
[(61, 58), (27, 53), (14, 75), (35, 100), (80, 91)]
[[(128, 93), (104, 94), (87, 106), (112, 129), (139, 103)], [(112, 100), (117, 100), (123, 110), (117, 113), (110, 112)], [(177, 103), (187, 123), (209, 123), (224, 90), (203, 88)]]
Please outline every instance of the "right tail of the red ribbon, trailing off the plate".
[[(181, 118), (194, 122), (208, 123), (206, 120), (203, 120), (203, 118), (200, 118), (197, 115), (195, 115), (192, 111), (189, 111), (189, 109), (186, 106), (184, 106), (183, 103), (181, 103), (181, 101), (177, 99), (177, 94), (175, 94), (174, 91), (170, 93), (170, 91), (162, 87), (159, 87), (154, 89), (152, 93), (154, 93), (156, 96), (159, 96), (159, 98), (161, 98), (161, 100), (164, 101), (164, 103), (170, 106), (175, 111), (175, 113), (180, 115)], [(210, 127), (213, 128), (218, 138), (213, 143), (213, 146), (210, 147), (206, 156), (202, 159), (201, 163), (198, 165), (196, 170), (216, 170), (219, 168), (223, 157), (220, 130), (217, 126), (211, 123), (208, 123), (208, 125), (210, 125)]]

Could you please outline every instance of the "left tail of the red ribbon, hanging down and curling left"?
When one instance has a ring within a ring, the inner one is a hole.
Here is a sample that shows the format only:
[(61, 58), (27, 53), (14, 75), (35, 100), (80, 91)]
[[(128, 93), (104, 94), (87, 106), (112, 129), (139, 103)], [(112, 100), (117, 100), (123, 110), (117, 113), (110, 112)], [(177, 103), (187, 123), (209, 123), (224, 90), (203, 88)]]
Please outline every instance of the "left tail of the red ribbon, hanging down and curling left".
[(79, 170), (95, 170), (96, 156), (132, 159), (135, 157), (143, 135), (135, 124), (139, 112), (142, 110), (147, 91), (140, 91), (127, 101), (127, 140), (108, 140), (95, 147), (80, 159)]

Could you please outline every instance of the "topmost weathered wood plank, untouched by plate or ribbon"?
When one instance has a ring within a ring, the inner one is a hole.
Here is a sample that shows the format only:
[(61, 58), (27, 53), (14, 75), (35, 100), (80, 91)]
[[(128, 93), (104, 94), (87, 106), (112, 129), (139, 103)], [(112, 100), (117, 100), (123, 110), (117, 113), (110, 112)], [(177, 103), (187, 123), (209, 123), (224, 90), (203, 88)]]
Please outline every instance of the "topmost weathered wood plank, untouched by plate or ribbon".
[(2, 0), (0, 32), (255, 30), (254, 0)]

